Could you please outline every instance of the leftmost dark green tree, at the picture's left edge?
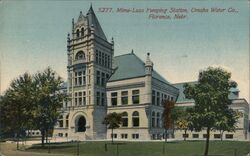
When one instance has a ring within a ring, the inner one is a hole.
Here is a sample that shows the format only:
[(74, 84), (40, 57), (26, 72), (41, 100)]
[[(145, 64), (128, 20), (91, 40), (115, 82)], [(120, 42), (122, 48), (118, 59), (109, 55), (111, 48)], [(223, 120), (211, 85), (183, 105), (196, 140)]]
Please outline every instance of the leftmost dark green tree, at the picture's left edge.
[(34, 83), (32, 76), (24, 73), (14, 79), (1, 99), (1, 130), (6, 136), (17, 138), (25, 135), (27, 129), (33, 128), (34, 118)]

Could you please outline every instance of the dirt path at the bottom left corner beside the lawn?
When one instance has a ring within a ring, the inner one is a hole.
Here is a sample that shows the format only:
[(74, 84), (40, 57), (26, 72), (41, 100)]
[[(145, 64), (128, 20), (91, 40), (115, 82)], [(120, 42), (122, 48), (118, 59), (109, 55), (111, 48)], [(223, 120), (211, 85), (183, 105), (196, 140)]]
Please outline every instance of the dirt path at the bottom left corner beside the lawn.
[(63, 156), (64, 154), (36, 153), (16, 150), (15, 143), (0, 143), (0, 156)]

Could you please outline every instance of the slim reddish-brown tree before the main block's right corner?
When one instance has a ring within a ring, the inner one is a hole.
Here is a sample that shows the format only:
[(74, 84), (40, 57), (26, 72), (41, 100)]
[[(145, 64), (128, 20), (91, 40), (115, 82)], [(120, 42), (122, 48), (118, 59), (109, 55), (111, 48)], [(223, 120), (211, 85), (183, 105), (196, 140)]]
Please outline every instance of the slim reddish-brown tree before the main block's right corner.
[(171, 112), (173, 111), (175, 102), (164, 100), (162, 104), (164, 107), (164, 111), (162, 114), (163, 127), (165, 129), (165, 142), (167, 142), (168, 130), (174, 128), (173, 113)]

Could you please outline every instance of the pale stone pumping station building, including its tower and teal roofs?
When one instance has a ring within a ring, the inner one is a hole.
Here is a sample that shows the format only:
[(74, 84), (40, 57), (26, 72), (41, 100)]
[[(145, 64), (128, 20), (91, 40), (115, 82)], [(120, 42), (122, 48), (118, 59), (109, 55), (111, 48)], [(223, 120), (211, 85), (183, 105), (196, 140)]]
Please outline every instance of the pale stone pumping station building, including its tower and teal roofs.
[[(53, 133), (56, 137), (110, 139), (111, 130), (102, 122), (108, 113), (117, 112), (122, 113), (123, 122), (114, 130), (115, 139), (163, 139), (162, 100), (177, 101), (178, 106), (194, 105), (192, 100), (182, 103), (181, 85), (173, 85), (157, 73), (149, 53), (145, 61), (133, 50), (114, 56), (114, 41), (107, 40), (92, 6), (86, 15), (80, 12), (77, 21), (72, 20), (67, 56), (68, 80), (62, 90), (69, 100), (59, 110), (61, 116)], [(237, 100), (232, 107), (246, 107), (245, 113), (247, 105)], [(247, 128), (247, 119), (245, 114), (242, 131)], [(172, 137), (181, 135), (178, 130), (172, 133)]]

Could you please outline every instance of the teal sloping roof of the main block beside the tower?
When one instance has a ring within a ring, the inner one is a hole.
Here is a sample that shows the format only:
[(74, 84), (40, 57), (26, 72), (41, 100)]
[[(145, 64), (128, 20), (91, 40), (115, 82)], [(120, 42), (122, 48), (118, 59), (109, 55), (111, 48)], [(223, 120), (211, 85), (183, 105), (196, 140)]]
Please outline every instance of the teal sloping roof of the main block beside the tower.
[[(109, 82), (146, 76), (145, 63), (133, 52), (120, 56), (115, 56), (114, 68), (115, 72), (113, 75), (111, 75)], [(152, 77), (163, 83), (170, 84), (155, 70), (153, 70)]]

